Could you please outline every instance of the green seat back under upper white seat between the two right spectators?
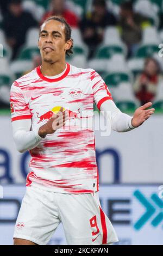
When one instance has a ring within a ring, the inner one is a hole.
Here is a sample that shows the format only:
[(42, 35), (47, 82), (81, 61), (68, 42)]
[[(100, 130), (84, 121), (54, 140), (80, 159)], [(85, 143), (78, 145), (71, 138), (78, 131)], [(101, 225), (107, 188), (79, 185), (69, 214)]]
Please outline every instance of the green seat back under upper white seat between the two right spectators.
[(116, 53), (124, 54), (123, 48), (116, 45), (106, 45), (98, 48), (95, 57), (98, 59), (110, 59)]

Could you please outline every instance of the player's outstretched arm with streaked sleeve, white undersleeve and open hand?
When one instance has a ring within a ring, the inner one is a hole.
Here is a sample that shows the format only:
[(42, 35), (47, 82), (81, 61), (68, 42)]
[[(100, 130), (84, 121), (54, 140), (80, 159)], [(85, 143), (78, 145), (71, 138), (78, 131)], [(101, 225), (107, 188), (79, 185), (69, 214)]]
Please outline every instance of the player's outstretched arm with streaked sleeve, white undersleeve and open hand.
[(111, 128), (117, 132), (127, 132), (140, 126), (154, 113), (154, 108), (147, 109), (152, 106), (151, 102), (136, 109), (133, 117), (122, 113), (115, 105), (108, 87), (99, 74), (92, 70), (91, 83), (94, 101), (100, 111), (109, 112), (111, 115)]

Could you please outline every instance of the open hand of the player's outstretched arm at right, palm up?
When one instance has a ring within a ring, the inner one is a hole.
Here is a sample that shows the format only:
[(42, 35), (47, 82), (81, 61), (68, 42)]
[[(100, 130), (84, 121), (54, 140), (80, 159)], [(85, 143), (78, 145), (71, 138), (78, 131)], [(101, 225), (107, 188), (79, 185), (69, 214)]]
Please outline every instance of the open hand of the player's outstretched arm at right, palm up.
[(138, 127), (141, 124), (143, 124), (151, 115), (154, 113), (155, 109), (150, 108), (147, 109), (148, 107), (152, 106), (152, 102), (147, 102), (145, 105), (137, 108), (135, 110), (133, 119), (132, 119), (132, 125), (134, 127)]

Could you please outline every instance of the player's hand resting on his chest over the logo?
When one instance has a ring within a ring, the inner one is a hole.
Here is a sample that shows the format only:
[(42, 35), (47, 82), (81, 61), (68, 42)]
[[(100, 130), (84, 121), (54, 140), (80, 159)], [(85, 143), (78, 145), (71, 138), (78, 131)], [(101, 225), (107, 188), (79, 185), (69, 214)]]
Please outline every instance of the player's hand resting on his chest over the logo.
[(57, 114), (53, 114), (52, 118), (39, 129), (39, 136), (45, 138), (47, 134), (52, 134), (65, 125), (65, 122), (69, 119), (68, 112), (64, 111), (61, 107)]

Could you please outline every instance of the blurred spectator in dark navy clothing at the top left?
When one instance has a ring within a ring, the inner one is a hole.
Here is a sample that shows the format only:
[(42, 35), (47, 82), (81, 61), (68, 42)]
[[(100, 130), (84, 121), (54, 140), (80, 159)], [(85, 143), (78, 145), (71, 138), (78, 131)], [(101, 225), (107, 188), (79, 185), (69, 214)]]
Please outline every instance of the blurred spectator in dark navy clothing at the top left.
[(12, 59), (26, 40), (26, 32), (29, 28), (37, 26), (33, 16), (24, 11), (21, 0), (10, 0), (8, 12), (4, 15), (2, 28), (5, 32), (7, 42), (12, 48)]

